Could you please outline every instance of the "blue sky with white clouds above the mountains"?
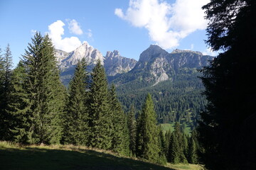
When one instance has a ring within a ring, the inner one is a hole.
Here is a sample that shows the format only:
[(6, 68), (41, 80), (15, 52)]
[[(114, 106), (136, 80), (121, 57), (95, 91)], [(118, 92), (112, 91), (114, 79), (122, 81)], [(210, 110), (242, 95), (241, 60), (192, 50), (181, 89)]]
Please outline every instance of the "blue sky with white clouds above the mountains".
[(118, 50), (139, 60), (151, 44), (171, 52), (194, 50), (215, 55), (207, 40), (201, 6), (210, 0), (0, 0), (0, 47), (9, 44), (14, 65), (36, 31), (55, 48), (71, 52), (82, 42)]

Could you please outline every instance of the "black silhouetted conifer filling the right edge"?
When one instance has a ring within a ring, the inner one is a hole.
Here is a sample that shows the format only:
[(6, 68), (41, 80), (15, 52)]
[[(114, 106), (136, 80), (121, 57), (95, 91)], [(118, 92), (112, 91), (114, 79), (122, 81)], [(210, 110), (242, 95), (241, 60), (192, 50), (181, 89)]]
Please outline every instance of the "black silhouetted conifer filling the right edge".
[(256, 1), (212, 0), (208, 44), (223, 50), (203, 72), (208, 99), (199, 132), (209, 169), (255, 169)]

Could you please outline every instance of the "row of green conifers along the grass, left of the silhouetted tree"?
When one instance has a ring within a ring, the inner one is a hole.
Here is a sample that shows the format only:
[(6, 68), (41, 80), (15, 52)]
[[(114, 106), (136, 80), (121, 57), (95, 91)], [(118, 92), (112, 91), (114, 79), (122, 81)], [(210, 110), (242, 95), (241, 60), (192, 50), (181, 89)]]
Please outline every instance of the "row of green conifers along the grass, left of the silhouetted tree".
[(78, 62), (66, 89), (50, 38), (36, 33), (18, 66), (13, 71), (11, 67), (8, 45), (1, 57), (0, 140), (82, 145), (156, 164), (197, 163), (196, 133), (189, 137), (176, 123), (174, 132), (164, 134), (150, 94), (137, 119), (133, 106), (124, 113), (100, 60), (91, 73), (85, 59)]

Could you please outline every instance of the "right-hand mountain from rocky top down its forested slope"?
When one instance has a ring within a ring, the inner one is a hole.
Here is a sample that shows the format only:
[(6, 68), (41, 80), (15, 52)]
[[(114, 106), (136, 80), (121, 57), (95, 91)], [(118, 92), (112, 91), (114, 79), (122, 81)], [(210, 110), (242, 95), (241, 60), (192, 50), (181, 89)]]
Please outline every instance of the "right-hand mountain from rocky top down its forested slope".
[(159, 123), (180, 121), (196, 124), (198, 113), (206, 105), (201, 96), (204, 87), (198, 69), (213, 57), (201, 52), (174, 50), (168, 53), (151, 45), (139, 57), (134, 69), (117, 77), (110, 77), (117, 86), (119, 100), (125, 111), (132, 103), (138, 110), (147, 93), (155, 101)]

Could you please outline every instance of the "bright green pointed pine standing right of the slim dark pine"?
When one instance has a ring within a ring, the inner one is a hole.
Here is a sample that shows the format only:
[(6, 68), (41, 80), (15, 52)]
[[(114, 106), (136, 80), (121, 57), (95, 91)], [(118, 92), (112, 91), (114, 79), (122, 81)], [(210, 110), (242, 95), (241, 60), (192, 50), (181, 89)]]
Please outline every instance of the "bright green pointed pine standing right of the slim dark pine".
[(150, 94), (142, 107), (137, 123), (137, 157), (161, 164), (161, 146), (159, 130), (156, 125), (156, 113)]

